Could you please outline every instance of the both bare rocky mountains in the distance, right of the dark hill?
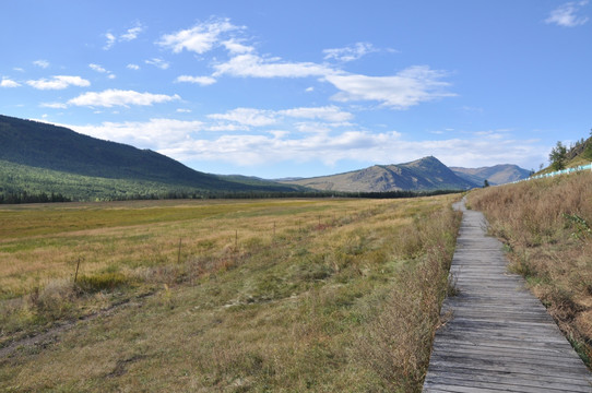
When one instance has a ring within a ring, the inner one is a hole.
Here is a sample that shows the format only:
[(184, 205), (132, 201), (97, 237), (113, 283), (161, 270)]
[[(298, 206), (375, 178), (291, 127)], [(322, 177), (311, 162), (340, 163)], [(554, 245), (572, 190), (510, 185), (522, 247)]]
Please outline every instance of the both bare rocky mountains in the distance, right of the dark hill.
[(383, 192), (465, 190), (483, 187), (485, 179), (490, 184), (500, 184), (528, 176), (528, 170), (516, 165), (497, 165), (478, 169), (449, 168), (430, 156), (405, 164), (375, 165), (345, 174), (277, 181), (316, 190)]

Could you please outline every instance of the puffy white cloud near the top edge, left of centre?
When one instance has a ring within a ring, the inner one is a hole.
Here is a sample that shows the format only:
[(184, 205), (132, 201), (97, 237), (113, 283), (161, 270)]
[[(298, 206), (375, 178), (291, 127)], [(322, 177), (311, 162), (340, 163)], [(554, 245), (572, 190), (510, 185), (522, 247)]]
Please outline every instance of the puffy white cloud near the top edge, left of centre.
[[(229, 19), (212, 19), (191, 28), (165, 34), (156, 44), (173, 50), (175, 53), (188, 50), (201, 55), (212, 50), (218, 44), (222, 34), (241, 28), (233, 25)], [(228, 50), (246, 50), (247, 48), (237, 41), (227, 40), (226, 43), (230, 43), (226, 44)]]

